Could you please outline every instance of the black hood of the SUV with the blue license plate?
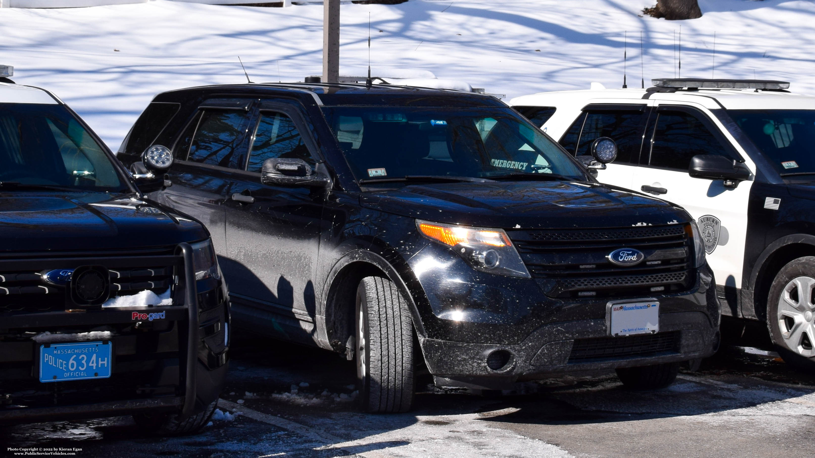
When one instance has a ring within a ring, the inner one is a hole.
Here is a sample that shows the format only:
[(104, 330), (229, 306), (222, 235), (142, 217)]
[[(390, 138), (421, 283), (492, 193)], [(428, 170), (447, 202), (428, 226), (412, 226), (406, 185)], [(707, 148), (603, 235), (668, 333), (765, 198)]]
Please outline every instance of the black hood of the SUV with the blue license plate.
[(199, 223), (147, 200), (108, 194), (0, 194), (0, 251), (141, 249), (202, 240)]

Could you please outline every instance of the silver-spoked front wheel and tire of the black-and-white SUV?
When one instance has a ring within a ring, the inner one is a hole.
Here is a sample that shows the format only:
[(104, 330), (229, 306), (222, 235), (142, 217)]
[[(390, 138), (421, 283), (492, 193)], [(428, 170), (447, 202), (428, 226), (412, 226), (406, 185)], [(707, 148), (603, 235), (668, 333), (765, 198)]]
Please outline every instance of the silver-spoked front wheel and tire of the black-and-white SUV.
[(787, 364), (815, 372), (815, 257), (783, 266), (767, 297), (767, 328)]

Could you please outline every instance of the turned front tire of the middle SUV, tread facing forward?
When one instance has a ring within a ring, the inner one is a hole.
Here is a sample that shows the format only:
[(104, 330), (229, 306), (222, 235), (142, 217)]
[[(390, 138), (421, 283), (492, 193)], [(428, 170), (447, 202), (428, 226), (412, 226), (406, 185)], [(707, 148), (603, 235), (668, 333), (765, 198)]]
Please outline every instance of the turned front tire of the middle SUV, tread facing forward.
[(413, 403), (413, 328), (407, 302), (382, 277), (359, 282), (355, 361), (361, 407), (367, 412), (407, 412)]

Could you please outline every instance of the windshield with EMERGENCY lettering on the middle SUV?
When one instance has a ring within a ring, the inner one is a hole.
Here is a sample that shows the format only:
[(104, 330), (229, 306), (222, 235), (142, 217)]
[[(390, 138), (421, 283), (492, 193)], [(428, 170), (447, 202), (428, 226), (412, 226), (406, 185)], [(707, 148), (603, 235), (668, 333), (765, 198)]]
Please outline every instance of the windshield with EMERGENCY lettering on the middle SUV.
[[(586, 179), (510, 108), (323, 108), (355, 177)], [(548, 174), (548, 176), (546, 176)]]

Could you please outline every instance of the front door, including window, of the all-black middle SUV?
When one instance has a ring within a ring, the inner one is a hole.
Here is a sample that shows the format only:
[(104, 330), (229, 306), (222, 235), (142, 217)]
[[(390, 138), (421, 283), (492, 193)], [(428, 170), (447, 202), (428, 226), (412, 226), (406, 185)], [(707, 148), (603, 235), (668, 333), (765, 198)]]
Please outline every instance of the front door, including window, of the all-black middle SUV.
[(304, 135), (305, 123), (291, 103), (264, 100), (255, 110), (250, 132), (249, 158), (245, 170), (233, 174), (226, 205), (230, 293), (259, 309), (258, 319), (269, 319), (264, 314), (272, 312), (288, 317), (284, 324), (308, 332), (315, 315), (315, 288), (321, 286), (313, 279), (326, 191), (267, 185), (260, 178), (263, 161), (273, 157), (302, 159), (315, 168), (315, 143)]

